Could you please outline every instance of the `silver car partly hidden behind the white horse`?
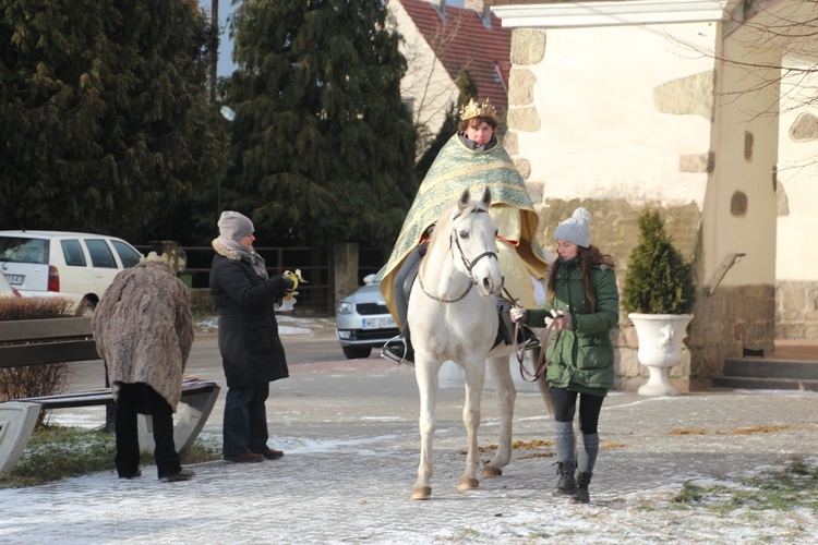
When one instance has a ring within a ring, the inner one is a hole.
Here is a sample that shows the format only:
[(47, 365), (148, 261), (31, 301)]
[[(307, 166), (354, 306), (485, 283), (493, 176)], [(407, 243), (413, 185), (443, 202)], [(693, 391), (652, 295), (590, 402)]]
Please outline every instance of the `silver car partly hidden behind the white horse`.
[(381, 294), (384, 272), (385, 267), (368, 275), (363, 287), (338, 303), (335, 335), (350, 360), (369, 358), (373, 348), (380, 349), (399, 332)]

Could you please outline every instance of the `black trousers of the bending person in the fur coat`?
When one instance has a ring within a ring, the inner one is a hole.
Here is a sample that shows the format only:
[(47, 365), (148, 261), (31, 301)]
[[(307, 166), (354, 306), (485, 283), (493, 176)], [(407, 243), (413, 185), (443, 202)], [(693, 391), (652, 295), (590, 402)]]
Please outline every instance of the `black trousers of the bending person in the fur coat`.
[(154, 427), (154, 459), (159, 477), (173, 475), (182, 469), (173, 444), (173, 409), (151, 386), (144, 383), (123, 384), (117, 400), (117, 473), (131, 477), (140, 469), (137, 414), (151, 414)]

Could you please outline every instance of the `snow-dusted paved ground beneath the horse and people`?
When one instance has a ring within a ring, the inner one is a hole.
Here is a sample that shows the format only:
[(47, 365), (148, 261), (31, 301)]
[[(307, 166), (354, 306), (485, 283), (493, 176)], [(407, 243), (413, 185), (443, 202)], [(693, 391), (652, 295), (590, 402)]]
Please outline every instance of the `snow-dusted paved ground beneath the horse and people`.
[[(818, 524), (815, 512), (693, 519), (670, 501), (689, 480), (815, 456), (816, 393), (612, 393), (601, 416), (592, 504), (574, 506), (550, 495), (552, 422), (532, 390), (518, 395), (520, 445), (505, 474), (481, 481), (478, 491), (457, 492), (465, 462), (462, 391), (444, 389), (433, 498), (411, 501), (419, 449), (412, 370), (373, 356), (291, 372), (274, 383), (267, 403), (270, 446), (285, 450), (284, 459), (197, 464), (187, 483), (160, 483), (147, 467), (134, 481), (100, 473), (0, 491), (0, 543), (700, 543), (748, 536), (809, 543)], [(214, 440), (220, 412), (217, 407), (205, 428)], [(496, 422), (494, 395), (486, 391), (481, 447), (493, 444)]]

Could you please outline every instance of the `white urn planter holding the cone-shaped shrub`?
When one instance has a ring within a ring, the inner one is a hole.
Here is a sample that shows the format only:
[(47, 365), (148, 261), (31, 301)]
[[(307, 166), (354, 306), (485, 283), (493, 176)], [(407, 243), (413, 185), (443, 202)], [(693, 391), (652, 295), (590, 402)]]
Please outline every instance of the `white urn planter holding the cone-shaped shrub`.
[(678, 396), (681, 390), (670, 380), (671, 367), (682, 361), (682, 342), (693, 314), (630, 313), (639, 338), (636, 354), (639, 363), (648, 367), (650, 377), (638, 390), (640, 396)]

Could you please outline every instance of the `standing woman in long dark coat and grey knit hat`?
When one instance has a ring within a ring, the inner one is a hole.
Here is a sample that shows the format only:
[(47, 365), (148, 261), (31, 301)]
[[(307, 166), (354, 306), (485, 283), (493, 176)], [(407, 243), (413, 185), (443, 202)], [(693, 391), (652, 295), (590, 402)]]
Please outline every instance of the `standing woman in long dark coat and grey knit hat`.
[(289, 376), (273, 307), (293, 288), (282, 276), (268, 277), (253, 250), (253, 222), (224, 211), (210, 266), (210, 296), (218, 311), (218, 342), (227, 379), (222, 455), (229, 462), (260, 462), (284, 456), (267, 446), (264, 405), (269, 383)]

